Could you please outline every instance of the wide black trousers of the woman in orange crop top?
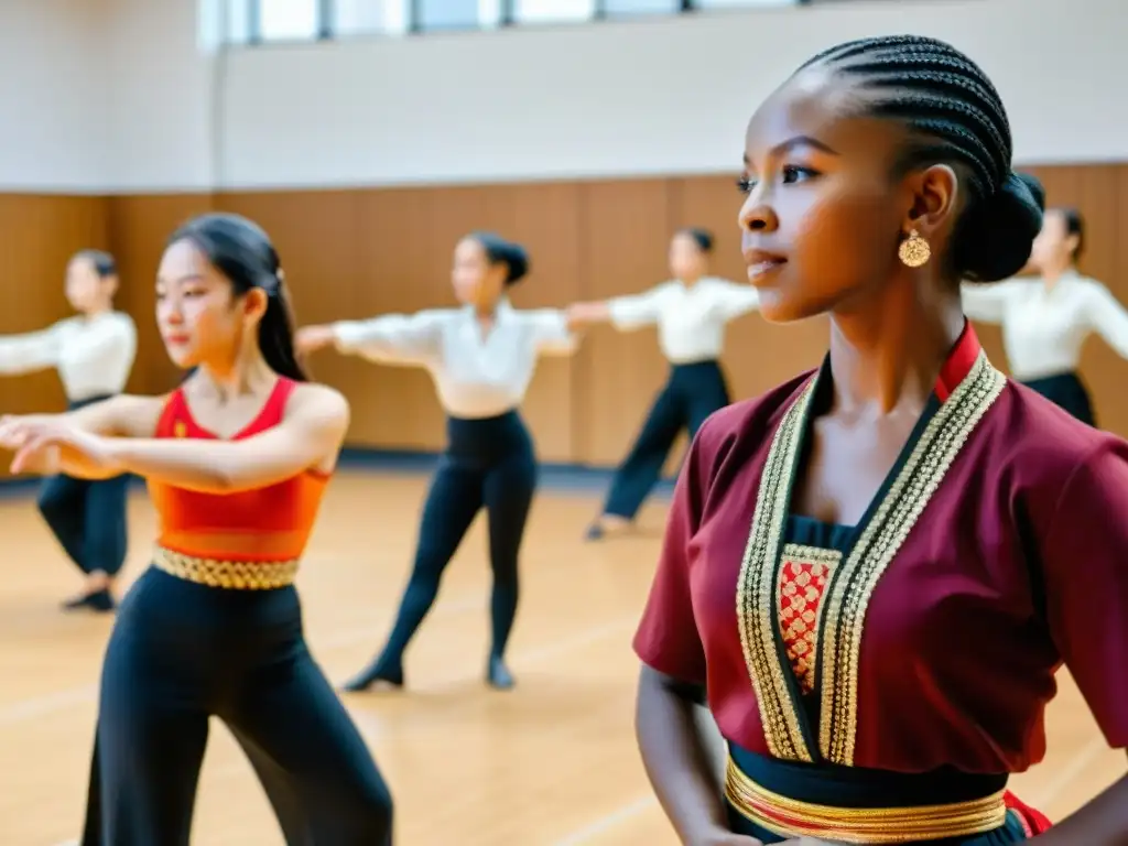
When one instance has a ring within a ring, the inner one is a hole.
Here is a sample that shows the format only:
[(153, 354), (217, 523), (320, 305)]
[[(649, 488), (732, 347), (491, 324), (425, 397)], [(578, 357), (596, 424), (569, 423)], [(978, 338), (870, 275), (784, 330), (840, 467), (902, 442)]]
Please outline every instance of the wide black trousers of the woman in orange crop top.
[(209, 717), (243, 746), (288, 846), (388, 846), (391, 796), (306, 646), (294, 589), (151, 567), (102, 671), (82, 846), (188, 846)]

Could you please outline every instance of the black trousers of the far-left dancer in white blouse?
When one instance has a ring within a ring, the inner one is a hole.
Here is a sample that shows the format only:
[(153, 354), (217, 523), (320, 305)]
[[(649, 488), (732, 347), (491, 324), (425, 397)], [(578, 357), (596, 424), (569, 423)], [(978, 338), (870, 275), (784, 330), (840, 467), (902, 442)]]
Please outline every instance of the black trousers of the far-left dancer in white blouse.
[[(70, 404), (70, 409), (99, 403), (92, 397)], [(67, 475), (49, 477), (36, 505), (70, 559), (83, 573), (116, 575), (129, 549), (126, 501), (130, 477), (89, 481)]]

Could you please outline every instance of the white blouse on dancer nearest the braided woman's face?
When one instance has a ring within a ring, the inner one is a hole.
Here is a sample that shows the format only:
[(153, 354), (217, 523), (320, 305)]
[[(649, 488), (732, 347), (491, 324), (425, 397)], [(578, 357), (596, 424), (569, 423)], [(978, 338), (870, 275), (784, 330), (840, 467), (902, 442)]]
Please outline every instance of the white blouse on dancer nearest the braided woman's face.
[(759, 307), (759, 294), (748, 284), (705, 276), (693, 285), (670, 280), (643, 293), (608, 301), (611, 325), (636, 329), (658, 324), (658, 343), (671, 364), (719, 359), (724, 326)]

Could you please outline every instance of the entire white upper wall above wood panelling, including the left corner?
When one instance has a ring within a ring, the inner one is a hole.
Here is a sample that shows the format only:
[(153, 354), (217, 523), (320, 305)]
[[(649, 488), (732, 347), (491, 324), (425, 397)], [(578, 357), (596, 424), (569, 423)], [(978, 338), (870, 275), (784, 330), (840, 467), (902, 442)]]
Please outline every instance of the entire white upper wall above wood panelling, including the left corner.
[(1128, 159), (1126, 0), (857, 0), (213, 54), (200, 3), (218, 1), (0, 0), (0, 190), (732, 171), (796, 63), (900, 30), (987, 69), (1020, 161)]

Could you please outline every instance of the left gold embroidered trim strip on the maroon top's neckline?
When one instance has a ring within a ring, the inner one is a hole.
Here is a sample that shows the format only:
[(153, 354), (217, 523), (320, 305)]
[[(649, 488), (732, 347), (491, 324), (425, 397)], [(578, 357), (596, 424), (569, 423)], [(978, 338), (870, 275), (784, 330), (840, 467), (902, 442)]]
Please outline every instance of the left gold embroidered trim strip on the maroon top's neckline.
[(814, 396), (812, 378), (803, 393), (784, 414), (772, 440), (764, 475), (756, 496), (752, 527), (740, 563), (737, 581), (737, 624), (744, 666), (756, 690), (764, 738), (773, 757), (782, 760), (812, 761), (799, 712), (791, 697), (791, 667), (779, 660), (778, 552), (781, 532), (787, 519), (787, 492), (791, 468), (797, 459), (807, 411)]

